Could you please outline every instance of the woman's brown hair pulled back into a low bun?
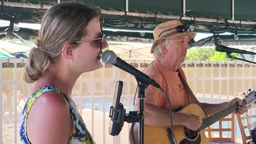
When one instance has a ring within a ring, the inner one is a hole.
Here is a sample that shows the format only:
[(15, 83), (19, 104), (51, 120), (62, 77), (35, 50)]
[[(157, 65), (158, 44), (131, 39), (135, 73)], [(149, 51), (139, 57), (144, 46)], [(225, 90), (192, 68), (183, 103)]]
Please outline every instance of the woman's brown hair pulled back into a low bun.
[[(92, 18), (100, 17), (98, 9), (77, 3), (53, 5), (42, 19), (36, 45), (30, 50), (23, 79), (33, 83), (61, 54), (65, 44), (74, 44), (86, 35), (84, 28)], [(78, 46), (78, 44), (74, 44)]]

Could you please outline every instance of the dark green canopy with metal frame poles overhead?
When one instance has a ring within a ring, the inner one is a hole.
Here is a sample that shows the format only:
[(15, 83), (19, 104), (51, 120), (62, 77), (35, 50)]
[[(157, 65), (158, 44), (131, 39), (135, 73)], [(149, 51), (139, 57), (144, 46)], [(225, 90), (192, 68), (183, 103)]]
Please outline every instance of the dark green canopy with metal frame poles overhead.
[[(0, 20), (10, 20), (11, 15), (15, 14), (19, 22), (36, 23), (42, 18), (43, 10), (49, 9), (58, 2), (67, 1), (3, 1), (0, 7)], [(237, 30), (238, 34), (255, 34), (256, 31), (254, 8), (256, 1), (253, 0), (80, 0), (75, 2), (99, 7), (103, 13), (102, 26), (105, 34), (108, 35), (153, 39), (152, 31), (155, 26), (171, 19), (180, 19), (183, 25), (188, 27), (193, 25), (194, 31), (202, 33), (211, 33), (212, 27), (216, 33), (225, 31), (234, 33), (234, 30)], [(145, 36), (141, 36), (138, 32), (141, 30), (141, 25), (146, 31)], [(0, 32), (6, 28), (0, 27)], [(35, 34), (34, 30), (22, 28), (20, 30), (26, 31), (25, 33), (29, 35)]]

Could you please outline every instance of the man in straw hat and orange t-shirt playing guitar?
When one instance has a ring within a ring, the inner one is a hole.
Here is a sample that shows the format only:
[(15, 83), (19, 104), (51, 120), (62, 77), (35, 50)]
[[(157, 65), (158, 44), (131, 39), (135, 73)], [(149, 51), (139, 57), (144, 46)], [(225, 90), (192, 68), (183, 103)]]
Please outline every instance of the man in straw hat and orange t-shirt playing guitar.
[[(194, 102), (190, 98), (186, 86), (182, 83), (178, 70), (186, 79), (180, 65), (185, 60), (189, 49), (188, 42), (195, 36), (196, 33), (187, 31), (187, 28), (179, 20), (161, 23), (154, 29), (154, 44), (151, 47), (151, 53), (154, 53), (156, 60), (143, 70), (143, 73), (161, 85), (169, 96), (173, 125), (183, 125), (194, 131), (201, 126), (202, 119), (194, 114), (177, 113), (177, 111)], [(137, 95), (134, 101), (135, 110), (140, 109)], [(209, 116), (235, 102), (239, 104), (235, 114), (243, 114), (247, 111), (248, 107), (242, 105), (242, 100), (238, 98), (219, 104), (200, 103), (200, 105)], [(164, 94), (152, 85), (146, 89), (145, 125), (171, 125), (167, 100)]]

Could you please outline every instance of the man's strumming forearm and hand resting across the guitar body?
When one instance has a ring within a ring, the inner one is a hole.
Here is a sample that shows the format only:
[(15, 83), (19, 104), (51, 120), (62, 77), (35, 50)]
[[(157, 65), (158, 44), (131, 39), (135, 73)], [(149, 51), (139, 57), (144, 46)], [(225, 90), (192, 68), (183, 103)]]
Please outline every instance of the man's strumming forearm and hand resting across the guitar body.
[[(134, 110), (139, 111), (140, 106), (136, 105)], [(170, 126), (171, 118), (169, 111), (158, 108), (154, 105), (145, 103), (145, 125), (150, 126)], [(173, 125), (184, 125), (190, 130), (197, 130), (202, 124), (202, 119), (199, 116), (177, 113), (172, 111)]]

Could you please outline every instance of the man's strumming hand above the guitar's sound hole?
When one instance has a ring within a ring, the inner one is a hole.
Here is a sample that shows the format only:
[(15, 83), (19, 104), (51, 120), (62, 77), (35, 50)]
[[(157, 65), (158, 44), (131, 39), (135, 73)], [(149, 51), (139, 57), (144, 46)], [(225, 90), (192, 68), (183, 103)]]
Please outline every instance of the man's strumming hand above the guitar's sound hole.
[(185, 123), (185, 126), (193, 131), (196, 131), (199, 129), (199, 127), (202, 125), (203, 121), (202, 119), (193, 114), (187, 114), (187, 122)]

